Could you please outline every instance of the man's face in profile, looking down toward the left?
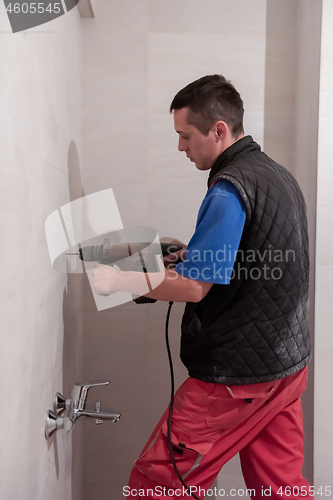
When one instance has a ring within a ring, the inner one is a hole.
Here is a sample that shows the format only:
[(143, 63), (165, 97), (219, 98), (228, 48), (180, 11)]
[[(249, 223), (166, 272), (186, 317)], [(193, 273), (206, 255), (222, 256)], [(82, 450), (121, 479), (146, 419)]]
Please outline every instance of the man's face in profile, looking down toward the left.
[(222, 145), (214, 127), (208, 135), (187, 123), (188, 108), (174, 110), (175, 130), (179, 135), (178, 149), (195, 163), (198, 170), (209, 170), (221, 154)]

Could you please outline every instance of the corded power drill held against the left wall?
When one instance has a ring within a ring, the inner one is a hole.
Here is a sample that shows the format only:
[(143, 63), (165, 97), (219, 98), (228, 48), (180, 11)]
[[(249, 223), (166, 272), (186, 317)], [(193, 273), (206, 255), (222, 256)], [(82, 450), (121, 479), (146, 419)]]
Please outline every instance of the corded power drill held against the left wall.
[[(86, 246), (79, 249), (80, 259), (86, 262), (100, 262), (108, 266), (115, 265), (122, 271), (158, 272), (160, 270), (157, 256), (163, 257), (178, 252), (181, 245), (175, 243), (120, 243), (111, 244), (109, 238), (105, 238), (102, 245)], [(178, 259), (173, 264), (178, 264)], [(136, 304), (149, 304), (156, 302), (155, 299), (133, 295)]]

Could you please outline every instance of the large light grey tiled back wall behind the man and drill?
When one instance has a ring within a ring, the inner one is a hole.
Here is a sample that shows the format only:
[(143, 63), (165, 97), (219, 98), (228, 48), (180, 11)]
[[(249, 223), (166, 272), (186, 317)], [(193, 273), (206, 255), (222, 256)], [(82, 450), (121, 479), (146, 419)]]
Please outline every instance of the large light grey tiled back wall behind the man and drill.
[[(160, 237), (188, 242), (207, 173), (177, 151), (168, 107), (174, 94), (208, 73), (240, 90), (246, 132), (263, 143), (266, 0), (99, 0), (83, 20), (83, 184), (86, 194), (112, 187), (124, 225), (155, 227)], [(85, 289), (84, 376), (110, 377), (91, 391), (123, 412), (116, 425), (86, 423), (84, 500), (119, 498), (161, 413), (170, 388), (164, 346), (167, 304), (134, 303), (97, 312)], [(172, 312), (177, 384), (186, 377), (179, 354), (183, 305)], [(237, 461), (219, 482), (244, 483)]]

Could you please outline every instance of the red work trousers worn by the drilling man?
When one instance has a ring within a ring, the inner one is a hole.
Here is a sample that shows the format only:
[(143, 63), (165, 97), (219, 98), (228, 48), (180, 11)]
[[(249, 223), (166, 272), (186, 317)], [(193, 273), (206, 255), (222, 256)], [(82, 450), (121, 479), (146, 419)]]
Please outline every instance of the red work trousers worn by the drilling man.
[[(281, 380), (237, 386), (191, 377), (184, 382), (175, 394), (171, 435), (179, 472), (192, 492), (204, 498), (239, 452), (251, 498), (313, 498), (302, 475), (306, 374), (305, 368)], [(167, 419), (168, 410), (135, 462), (126, 497), (189, 498), (170, 460)]]

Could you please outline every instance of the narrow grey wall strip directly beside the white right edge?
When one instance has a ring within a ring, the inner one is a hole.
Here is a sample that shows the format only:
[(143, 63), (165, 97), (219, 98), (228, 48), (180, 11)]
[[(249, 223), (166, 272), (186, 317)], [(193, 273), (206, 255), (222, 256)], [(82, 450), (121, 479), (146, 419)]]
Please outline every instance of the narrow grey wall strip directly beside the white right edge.
[[(297, 178), (308, 207), (310, 237), (310, 328), (312, 345), (316, 348), (319, 332), (315, 331), (315, 276), (316, 276), (316, 216), (317, 216), (317, 154), (318, 103), (320, 82), (320, 47), (322, 2), (298, 2), (297, 12), (297, 80), (295, 99), (295, 148), (292, 172)], [(319, 201), (319, 200), (318, 200)], [(314, 366), (309, 366), (308, 389), (304, 394), (305, 425), (304, 472), (310, 484), (320, 485), (313, 475), (314, 466)], [(320, 389), (318, 388), (320, 391)]]

